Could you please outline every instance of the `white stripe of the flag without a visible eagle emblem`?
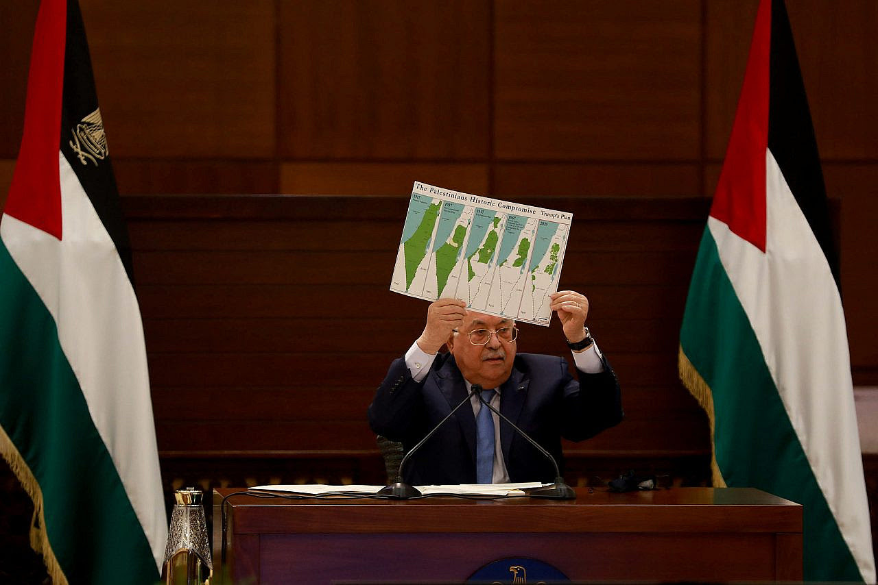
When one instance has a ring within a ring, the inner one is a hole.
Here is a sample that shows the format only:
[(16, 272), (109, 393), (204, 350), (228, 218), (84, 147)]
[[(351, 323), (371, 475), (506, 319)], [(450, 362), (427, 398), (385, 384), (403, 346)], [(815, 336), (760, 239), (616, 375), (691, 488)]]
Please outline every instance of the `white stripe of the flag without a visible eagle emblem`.
[(715, 218), (709, 218), (709, 229), (817, 484), (860, 574), (874, 582), (841, 297), (824, 252), (768, 150), (766, 208), (764, 254)]

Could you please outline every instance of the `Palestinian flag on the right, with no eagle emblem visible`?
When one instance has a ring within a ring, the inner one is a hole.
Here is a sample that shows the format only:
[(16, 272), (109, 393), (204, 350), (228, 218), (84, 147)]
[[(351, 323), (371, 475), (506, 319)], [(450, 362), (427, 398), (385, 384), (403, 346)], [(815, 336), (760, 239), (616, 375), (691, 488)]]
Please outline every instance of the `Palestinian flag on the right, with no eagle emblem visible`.
[(802, 503), (806, 580), (874, 582), (838, 260), (781, 0), (759, 4), (680, 378), (708, 412), (714, 485)]

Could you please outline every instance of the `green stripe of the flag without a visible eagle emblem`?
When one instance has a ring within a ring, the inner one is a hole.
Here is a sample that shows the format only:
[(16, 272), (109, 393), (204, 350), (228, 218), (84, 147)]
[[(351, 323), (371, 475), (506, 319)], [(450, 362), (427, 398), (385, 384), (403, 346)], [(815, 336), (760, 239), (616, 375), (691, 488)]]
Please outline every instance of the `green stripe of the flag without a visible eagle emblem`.
[(860, 581), (709, 229), (695, 261), (680, 346), (712, 391), (714, 449), (726, 485), (802, 503), (805, 579)]

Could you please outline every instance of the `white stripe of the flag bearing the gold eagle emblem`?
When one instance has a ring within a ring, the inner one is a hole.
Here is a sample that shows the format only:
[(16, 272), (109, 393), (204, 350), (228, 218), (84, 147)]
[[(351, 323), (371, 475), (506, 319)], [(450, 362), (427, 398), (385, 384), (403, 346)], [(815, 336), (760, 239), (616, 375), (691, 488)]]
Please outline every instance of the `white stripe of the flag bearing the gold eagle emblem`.
[(165, 517), (140, 307), (116, 246), (59, 152), (61, 241), (4, 216), (0, 233), (46, 304), (61, 349), (161, 572)]

